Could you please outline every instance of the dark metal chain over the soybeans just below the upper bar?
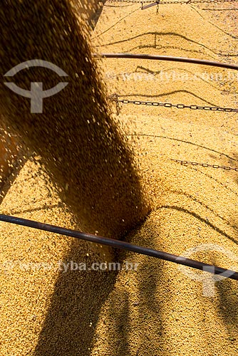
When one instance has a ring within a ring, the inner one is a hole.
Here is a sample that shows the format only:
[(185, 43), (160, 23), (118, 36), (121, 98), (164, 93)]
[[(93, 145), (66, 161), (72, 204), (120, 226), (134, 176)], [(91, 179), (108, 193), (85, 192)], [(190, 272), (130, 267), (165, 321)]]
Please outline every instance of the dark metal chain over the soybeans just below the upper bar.
[(126, 100), (118, 99), (118, 95), (113, 94), (109, 99), (116, 103), (117, 113), (119, 114), (119, 103), (122, 104), (134, 104), (134, 105), (147, 105), (147, 106), (162, 106), (164, 108), (177, 108), (177, 109), (190, 109), (190, 110), (207, 110), (207, 111), (219, 111), (219, 112), (238, 112), (238, 109), (232, 108), (219, 108), (216, 106), (200, 106), (200, 105), (185, 105), (185, 104), (172, 104), (172, 103), (153, 103), (151, 101), (140, 100)]

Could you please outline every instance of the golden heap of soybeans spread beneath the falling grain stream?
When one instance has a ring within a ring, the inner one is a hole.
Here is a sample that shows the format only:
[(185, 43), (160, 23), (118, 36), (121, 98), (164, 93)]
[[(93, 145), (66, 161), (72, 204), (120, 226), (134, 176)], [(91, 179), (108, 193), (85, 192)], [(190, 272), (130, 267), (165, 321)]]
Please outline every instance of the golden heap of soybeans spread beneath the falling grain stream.
[[(160, 6), (156, 15), (155, 7), (140, 11), (140, 5), (105, 3), (92, 33), (94, 51), (235, 63), (237, 11), (224, 10), (232, 6)], [(237, 107), (237, 79), (225, 70), (126, 60), (104, 60), (102, 70), (110, 93)], [(126, 239), (178, 255), (201, 244), (237, 255), (237, 173), (169, 160), (237, 167), (237, 115), (124, 105), (119, 120), (128, 135), (138, 137), (132, 143), (154, 208)], [(1, 211), (74, 226), (39, 172), (38, 164), (25, 164)], [(1, 261), (9, 261), (1, 271), (3, 355), (237, 355), (236, 281), (216, 283), (213, 297), (205, 296), (202, 283), (175, 264), (133, 253), (123, 257), (138, 263), (137, 271), (63, 273), (58, 261), (90, 265), (94, 253), (62, 236), (0, 226)], [(237, 261), (219, 251), (191, 257), (237, 270)], [(42, 261), (54, 268), (30, 264)]]

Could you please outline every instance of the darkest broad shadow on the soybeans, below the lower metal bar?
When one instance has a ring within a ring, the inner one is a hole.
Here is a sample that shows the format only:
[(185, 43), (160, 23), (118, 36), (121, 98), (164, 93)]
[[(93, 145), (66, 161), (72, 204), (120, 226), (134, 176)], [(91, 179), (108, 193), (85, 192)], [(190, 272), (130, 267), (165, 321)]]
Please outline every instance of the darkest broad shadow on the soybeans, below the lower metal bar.
[[(85, 260), (79, 247), (73, 244), (66, 261)], [(89, 260), (88, 265), (93, 263)], [(100, 309), (115, 278), (114, 272), (59, 273), (34, 355), (90, 355)]]

